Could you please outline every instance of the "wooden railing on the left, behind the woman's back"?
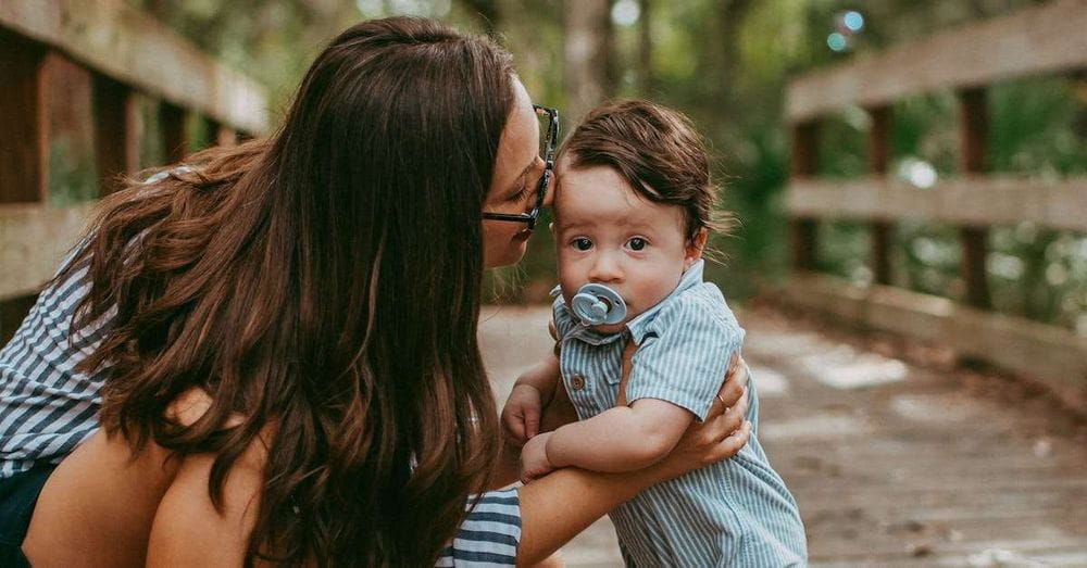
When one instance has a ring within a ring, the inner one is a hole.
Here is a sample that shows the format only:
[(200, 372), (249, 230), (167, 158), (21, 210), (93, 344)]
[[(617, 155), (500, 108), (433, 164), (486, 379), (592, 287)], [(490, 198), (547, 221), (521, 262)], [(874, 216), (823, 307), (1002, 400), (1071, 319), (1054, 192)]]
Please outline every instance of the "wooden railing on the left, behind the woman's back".
[(187, 152), (189, 113), (217, 143), (266, 128), (262, 89), (120, 0), (0, 2), (0, 344), (87, 223), (91, 204), (48, 203), (46, 71), (89, 74), (99, 194), (139, 168), (137, 93), (160, 101), (167, 162)]

